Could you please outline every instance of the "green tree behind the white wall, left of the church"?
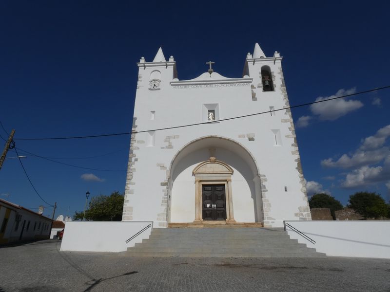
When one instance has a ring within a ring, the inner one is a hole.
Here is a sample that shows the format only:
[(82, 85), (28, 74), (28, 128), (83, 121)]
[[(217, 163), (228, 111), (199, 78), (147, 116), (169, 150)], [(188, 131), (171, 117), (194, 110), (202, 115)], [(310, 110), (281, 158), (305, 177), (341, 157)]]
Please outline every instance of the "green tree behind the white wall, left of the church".
[[(124, 195), (115, 191), (110, 196), (100, 195), (93, 197), (85, 211), (85, 219), (93, 221), (120, 221), (122, 220)], [(75, 212), (74, 220), (82, 219), (84, 211)]]

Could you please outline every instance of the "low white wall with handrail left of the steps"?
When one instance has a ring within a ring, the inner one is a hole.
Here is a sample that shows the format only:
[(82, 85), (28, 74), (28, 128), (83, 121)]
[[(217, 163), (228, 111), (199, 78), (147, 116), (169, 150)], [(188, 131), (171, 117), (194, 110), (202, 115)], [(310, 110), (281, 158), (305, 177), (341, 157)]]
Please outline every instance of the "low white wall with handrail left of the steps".
[[(152, 224), (129, 243), (126, 240)], [(149, 238), (153, 222), (69, 221), (66, 222), (61, 251), (124, 252)]]

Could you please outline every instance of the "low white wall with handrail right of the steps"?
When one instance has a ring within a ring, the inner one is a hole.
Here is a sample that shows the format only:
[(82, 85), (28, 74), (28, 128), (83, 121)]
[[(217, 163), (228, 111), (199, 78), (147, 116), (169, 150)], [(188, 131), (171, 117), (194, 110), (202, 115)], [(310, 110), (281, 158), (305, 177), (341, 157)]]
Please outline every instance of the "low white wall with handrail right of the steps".
[(286, 221), (315, 244), (286, 226), (290, 238), (327, 256), (390, 258), (390, 221)]

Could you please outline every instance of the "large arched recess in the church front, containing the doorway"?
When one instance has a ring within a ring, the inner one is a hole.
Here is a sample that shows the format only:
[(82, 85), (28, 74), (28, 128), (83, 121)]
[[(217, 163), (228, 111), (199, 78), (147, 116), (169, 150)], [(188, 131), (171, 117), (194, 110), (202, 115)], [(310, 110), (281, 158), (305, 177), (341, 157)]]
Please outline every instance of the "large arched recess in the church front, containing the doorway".
[(238, 142), (196, 139), (176, 153), (169, 174), (169, 222), (263, 221), (258, 167)]

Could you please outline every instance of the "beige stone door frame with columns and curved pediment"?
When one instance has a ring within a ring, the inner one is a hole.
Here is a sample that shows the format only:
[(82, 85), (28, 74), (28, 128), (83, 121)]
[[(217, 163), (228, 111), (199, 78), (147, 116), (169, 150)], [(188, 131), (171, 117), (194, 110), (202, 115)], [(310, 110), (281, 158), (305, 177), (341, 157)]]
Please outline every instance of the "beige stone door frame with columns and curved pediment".
[[(215, 221), (221, 223), (235, 222), (233, 212), (233, 192), (232, 192), (232, 174), (233, 169), (228, 164), (218, 161), (215, 157), (198, 164), (193, 170), (195, 176), (195, 220), (194, 223), (203, 223), (203, 184), (224, 184), (225, 185), (225, 204), (226, 221)], [(214, 222), (214, 221), (213, 221)]]

